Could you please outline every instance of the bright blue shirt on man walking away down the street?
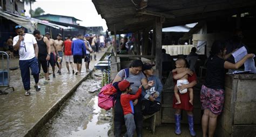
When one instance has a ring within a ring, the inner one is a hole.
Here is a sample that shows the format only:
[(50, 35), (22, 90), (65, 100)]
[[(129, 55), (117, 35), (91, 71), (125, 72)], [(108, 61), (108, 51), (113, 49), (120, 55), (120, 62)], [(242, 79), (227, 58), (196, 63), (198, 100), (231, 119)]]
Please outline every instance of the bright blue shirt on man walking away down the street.
[(72, 42), (71, 46), (72, 55), (84, 55), (86, 54), (86, 47), (83, 40), (76, 39)]

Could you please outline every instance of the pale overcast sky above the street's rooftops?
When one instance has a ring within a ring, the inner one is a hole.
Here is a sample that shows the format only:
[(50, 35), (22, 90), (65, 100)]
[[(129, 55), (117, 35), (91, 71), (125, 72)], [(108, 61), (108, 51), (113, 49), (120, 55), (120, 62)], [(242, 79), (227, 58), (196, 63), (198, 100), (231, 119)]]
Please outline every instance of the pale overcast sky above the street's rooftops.
[[(104, 31), (107, 29), (105, 19), (98, 15), (91, 0), (36, 0), (32, 4), (32, 10), (38, 7), (45, 11), (44, 14), (71, 16), (82, 20), (77, 21), (81, 26), (103, 26)], [(25, 15), (29, 16), (30, 6), (25, 5), (25, 10)]]

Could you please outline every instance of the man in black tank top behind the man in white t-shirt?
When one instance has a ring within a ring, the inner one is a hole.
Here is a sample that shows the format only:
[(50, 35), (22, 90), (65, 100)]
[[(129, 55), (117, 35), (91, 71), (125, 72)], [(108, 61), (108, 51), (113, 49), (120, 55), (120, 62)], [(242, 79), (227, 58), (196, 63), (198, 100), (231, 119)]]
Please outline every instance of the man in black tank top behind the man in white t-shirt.
[(36, 37), (37, 45), (38, 45), (38, 67), (39, 72), (41, 71), (41, 64), (44, 71), (45, 81), (44, 84), (48, 84), (48, 68), (47, 61), (50, 60), (51, 47), (48, 38), (41, 35), (40, 31), (35, 30), (33, 35)]

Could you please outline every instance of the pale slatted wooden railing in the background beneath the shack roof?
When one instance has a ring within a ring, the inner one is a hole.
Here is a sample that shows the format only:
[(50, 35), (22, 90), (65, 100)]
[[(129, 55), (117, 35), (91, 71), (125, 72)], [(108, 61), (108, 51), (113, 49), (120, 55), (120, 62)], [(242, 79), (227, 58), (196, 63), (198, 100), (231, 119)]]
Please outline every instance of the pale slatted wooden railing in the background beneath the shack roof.
[(191, 52), (191, 48), (193, 45), (163, 45), (162, 48), (166, 50), (166, 54), (170, 54), (171, 56), (175, 55), (188, 55)]

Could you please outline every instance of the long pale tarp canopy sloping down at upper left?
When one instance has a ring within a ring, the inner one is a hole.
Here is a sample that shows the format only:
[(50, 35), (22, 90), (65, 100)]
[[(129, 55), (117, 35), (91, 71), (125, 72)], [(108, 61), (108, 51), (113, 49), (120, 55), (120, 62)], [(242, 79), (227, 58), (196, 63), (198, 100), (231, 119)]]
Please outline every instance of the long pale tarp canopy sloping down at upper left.
[(2, 12), (2, 11), (0, 11), (0, 16), (4, 17), (6, 19), (9, 19), (11, 21), (14, 21), (16, 24), (21, 25), (30, 31), (34, 31), (35, 28), (37, 28), (37, 22), (33, 21), (33, 20), (15, 17), (15, 16), (12, 16), (12, 15)]

